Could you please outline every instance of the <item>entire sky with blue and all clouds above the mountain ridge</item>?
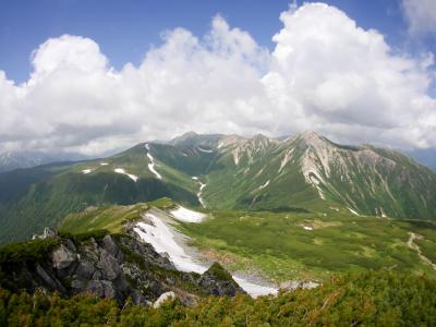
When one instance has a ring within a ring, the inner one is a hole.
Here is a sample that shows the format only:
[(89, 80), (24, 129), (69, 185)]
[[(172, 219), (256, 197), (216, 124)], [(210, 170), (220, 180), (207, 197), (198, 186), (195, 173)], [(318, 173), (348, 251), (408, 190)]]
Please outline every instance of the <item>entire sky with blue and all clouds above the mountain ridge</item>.
[(186, 131), (436, 147), (436, 0), (0, 3), (0, 150)]

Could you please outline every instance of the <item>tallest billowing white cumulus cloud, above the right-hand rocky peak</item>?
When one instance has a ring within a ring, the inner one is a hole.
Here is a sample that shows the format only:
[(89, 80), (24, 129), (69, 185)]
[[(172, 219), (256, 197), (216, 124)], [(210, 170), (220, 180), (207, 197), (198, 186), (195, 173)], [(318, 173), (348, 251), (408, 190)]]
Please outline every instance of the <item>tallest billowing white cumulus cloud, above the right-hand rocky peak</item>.
[(396, 56), (378, 32), (327, 4), (305, 4), (280, 19), (284, 27), (274, 37), (264, 82), (284, 111), (300, 108), (295, 129), (305, 121), (335, 138), (428, 145), (428, 130), (411, 132), (436, 110), (426, 95), (433, 57)]

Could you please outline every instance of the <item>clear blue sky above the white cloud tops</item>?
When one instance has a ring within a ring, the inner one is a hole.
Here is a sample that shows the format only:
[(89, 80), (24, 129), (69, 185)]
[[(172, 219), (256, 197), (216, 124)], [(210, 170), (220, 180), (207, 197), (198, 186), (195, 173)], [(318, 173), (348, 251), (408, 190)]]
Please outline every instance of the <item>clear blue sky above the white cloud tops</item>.
[[(409, 37), (400, 1), (326, 2), (344, 11), (359, 26), (378, 29), (393, 48), (411, 53), (436, 50), (434, 38), (413, 41)], [(288, 7), (284, 0), (4, 0), (0, 3), (0, 70), (15, 82), (26, 81), (31, 52), (49, 37), (63, 34), (94, 39), (111, 64), (121, 69), (126, 62), (141, 62), (152, 45), (161, 43), (162, 31), (181, 26), (202, 36), (218, 13), (272, 49), (271, 37), (281, 27), (279, 14)]]

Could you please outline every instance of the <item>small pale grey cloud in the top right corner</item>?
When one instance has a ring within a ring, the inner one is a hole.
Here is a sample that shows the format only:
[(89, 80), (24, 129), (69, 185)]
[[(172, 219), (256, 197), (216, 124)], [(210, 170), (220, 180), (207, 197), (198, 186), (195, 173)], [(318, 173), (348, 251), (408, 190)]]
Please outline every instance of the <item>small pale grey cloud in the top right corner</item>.
[(402, 11), (411, 34), (436, 32), (435, 0), (402, 0)]

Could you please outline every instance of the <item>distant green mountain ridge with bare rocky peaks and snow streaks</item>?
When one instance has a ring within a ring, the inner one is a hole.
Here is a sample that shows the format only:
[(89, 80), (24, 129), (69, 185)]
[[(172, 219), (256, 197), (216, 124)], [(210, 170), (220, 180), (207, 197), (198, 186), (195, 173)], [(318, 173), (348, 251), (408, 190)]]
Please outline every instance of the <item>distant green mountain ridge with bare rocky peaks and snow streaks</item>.
[(282, 140), (191, 132), (105, 159), (0, 174), (0, 240), (39, 232), (89, 205), (164, 196), (205, 209), (436, 217), (435, 173), (398, 152), (338, 145), (314, 132)]

